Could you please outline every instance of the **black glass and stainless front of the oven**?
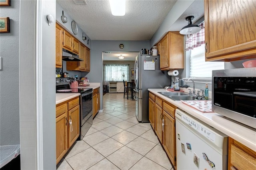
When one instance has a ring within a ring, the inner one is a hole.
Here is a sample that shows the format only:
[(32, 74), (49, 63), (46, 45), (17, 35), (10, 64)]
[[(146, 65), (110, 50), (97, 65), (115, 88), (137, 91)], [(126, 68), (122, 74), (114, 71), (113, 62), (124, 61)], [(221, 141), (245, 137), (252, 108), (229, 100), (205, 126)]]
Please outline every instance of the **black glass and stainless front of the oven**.
[(90, 89), (80, 95), (80, 135), (78, 140), (82, 140), (92, 126), (92, 91)]

